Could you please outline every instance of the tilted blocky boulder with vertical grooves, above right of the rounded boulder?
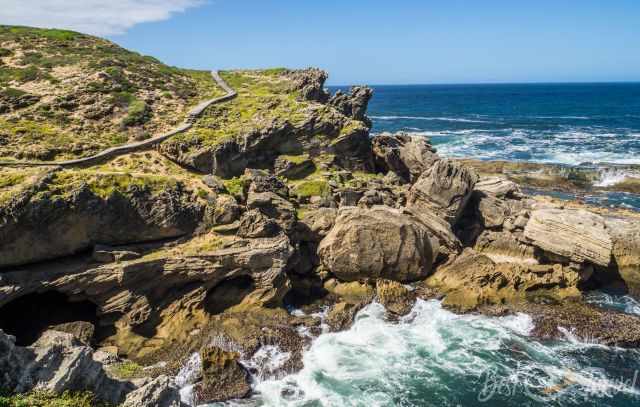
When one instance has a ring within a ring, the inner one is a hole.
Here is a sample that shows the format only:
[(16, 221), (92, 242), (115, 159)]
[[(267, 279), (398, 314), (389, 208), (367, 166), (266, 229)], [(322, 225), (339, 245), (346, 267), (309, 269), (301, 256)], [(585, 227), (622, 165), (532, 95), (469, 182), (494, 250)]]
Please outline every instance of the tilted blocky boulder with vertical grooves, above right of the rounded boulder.
[(477, 178), (470, 168), (450, 160), (438, 160), (411, 187), (407, 206), (414, 212), (433, 211), (454, 224)]

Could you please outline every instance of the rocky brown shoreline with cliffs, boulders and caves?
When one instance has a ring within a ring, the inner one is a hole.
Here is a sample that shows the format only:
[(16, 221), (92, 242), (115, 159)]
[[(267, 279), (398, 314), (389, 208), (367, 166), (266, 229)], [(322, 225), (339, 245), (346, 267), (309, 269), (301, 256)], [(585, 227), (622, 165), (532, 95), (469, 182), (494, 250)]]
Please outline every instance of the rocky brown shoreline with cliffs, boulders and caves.
[(173, 378), (198, 355), (180, 383), (192, 401), (246, 397), (247, 360), (271, 347), (289, 356), (262, 374), (297, 371), (312, 338), (372, 301), (390, 320), (438, 298), (526, 312), (543, 339), (563, 327), (640, 345), (640, 318), (583, 301), (640, 289), (640, 215), (528, 196), (497, 164), (440, 157), (423, 137), (370, 137), (366, 87), (331, 96), (322, 71), (277, 78), (301, 118), (126, 158), (169, 177), (123, 174), (115, 158), (34, 171), (0, 200), (0, 388), (179, 406)]

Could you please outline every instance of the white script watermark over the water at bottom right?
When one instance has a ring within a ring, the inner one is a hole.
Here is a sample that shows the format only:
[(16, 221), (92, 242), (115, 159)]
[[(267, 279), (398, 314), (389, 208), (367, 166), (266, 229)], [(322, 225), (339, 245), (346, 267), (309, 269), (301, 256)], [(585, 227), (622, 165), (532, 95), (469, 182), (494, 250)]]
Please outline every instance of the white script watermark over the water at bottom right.
[(486, 403), (494, 398), (525, 397), (544, 403), (555, 395), (569, 389), (579, 389), (585, 400), (612, 398), (620, 393), (640, 395), (638, 379), (640, 372), (629, 377), (596, 377), (565, 369), (561, 374), (545, 375), (542, 371), (533, 374), (530, 369), (516, 368), (510, 374), (501, 374), (496, 368), (488, 368), (480, 374), (477, 399)]

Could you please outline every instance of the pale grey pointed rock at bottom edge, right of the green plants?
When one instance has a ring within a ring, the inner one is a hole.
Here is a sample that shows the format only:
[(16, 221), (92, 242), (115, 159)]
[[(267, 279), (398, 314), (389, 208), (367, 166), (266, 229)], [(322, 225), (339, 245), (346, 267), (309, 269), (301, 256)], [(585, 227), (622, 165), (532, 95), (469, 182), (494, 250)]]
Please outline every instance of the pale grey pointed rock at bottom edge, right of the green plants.
[(127, 394), (122, 407), (186, 407), (180, 401), (180, 389), (161, 375)]

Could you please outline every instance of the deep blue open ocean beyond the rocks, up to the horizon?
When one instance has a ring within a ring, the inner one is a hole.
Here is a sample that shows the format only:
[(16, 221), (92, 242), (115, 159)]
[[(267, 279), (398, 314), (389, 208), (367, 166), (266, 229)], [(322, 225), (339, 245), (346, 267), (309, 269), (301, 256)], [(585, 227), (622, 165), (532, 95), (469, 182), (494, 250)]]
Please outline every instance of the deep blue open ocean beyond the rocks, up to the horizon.
[[(348, 88), (332, 88), (332, 91)], [(602, 186), (640, 171), (640, 83), (373, 86), (372, 133), (428, 137), (447, 157), (596, 166)], [(615, 167), (612, 170), (612, 165)], [(560, 198), (575, 199), (570, 194)], [(619, 192), (581, 199), (640, 210)]]

